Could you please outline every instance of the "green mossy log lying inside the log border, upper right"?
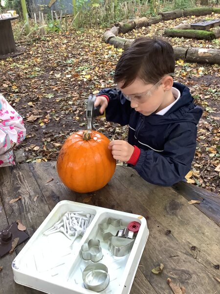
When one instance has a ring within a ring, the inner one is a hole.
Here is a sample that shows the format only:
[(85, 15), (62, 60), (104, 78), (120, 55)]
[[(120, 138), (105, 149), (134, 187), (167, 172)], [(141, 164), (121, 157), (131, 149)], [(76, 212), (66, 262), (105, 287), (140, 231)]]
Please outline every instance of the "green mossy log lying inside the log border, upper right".
[(165, 29), (164, 34), (171, 37), (194, 38), (199, 40), (213, 40), (216, 38), (213, 32), (193, 29)]

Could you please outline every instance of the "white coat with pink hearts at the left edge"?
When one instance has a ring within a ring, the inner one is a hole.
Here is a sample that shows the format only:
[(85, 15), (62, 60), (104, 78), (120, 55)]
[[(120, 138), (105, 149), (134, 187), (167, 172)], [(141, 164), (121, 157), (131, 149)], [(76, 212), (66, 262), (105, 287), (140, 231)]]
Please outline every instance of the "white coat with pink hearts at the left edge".
[(15, 165), (12, 149), (24, 140), (25, 135), (22, 117), (0, 94), (0, 167)]

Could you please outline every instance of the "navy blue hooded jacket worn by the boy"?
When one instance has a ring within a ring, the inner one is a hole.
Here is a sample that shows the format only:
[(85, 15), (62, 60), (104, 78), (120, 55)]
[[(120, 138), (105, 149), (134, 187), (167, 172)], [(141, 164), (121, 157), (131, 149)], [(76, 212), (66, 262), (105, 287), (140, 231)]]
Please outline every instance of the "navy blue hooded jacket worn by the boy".
[(110, 98), (107, 121), (129, 124), (128, 142), (140, 148), (135, 166), (139, 175), (155, 185), (171, 186), (190, 171), (196, 151), (197, 124), (202, 109), (193, 103), (189, 89), (179, 83), (181, 97), (165, 115), (144, 116), (131, 108), (121, 91), (106, 88), (98, 95)]

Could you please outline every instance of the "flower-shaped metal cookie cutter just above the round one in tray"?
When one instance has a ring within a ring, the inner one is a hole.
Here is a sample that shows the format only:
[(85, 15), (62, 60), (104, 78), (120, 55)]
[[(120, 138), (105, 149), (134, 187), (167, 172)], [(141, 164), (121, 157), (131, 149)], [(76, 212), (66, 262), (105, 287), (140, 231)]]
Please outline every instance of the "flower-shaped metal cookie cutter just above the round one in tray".
[(102, 248), (98, 239), (90, 239), (81, 246), (83, 259), (97, 262), (102, 259)]

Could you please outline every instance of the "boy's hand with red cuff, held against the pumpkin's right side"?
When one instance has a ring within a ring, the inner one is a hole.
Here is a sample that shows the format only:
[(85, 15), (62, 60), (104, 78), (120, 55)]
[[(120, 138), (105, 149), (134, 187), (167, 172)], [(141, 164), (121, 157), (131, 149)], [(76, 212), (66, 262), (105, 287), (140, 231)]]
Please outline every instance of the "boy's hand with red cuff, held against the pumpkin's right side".
[(126, 141), (114, 140), (109, 144), (114, 159), (127, 162), (133, 154), (134, 147)]

